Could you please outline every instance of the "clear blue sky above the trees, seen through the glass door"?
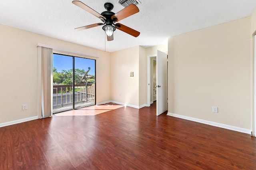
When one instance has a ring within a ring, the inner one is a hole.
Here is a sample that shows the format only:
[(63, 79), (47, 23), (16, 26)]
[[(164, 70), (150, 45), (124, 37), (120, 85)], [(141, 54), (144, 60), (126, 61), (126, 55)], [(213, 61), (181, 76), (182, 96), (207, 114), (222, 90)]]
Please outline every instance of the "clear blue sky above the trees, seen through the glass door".
[[(53, 54), (53, 67), (57, 69), (59, 73), (62, 70), (72, 69), (72, 57), (60, 54)], [(75, 69), (88, 70), (91, 67), (89, 75), (95, 75), (95, 60), (94, 59), (84, 59), (80, 57), (75, 57)]]

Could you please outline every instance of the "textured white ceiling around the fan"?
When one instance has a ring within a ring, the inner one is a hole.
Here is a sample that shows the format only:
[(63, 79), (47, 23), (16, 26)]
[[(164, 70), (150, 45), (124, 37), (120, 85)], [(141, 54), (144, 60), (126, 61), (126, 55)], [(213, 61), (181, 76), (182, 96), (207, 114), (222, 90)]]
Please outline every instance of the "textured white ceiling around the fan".
[[(81, 0), (98, 13), (104, 3), (114, 4), (112, 12), (124, 7), (118, 0)], [(168, 38), (231, 20), (250, 16), (256, 0), (140, 0), (140, 12), (120, 23), (140, 32), (137, 38), (120, 30), (114, 41), (106, 41), (106, 51), (118, 51), (136, 45), (167, 43)], [(99, 18), (72, 4), (72, 0), (0, 0), (0, 24), (105, 49), (102, 26), (76, 31), (74, 28), (101, 22)]]

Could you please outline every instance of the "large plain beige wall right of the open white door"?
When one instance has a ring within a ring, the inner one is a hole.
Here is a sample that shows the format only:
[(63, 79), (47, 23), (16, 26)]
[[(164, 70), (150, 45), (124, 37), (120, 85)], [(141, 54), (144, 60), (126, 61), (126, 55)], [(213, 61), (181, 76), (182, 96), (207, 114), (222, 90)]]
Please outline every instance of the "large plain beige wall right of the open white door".
[(250, 23), (247, 17), (169, 39), (169, 113), (251, 129)]

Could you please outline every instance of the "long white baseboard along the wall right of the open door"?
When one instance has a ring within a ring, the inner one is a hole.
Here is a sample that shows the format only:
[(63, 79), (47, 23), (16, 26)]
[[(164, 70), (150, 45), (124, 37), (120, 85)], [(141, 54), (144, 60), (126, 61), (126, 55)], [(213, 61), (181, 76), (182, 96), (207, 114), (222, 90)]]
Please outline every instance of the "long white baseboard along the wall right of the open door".
[(250, 129), (234, 127), (234, 126), (225, 125), (225, 124), (222, 124), (222, 123), (206, 121), (206, 120), (203, 120), (203, 119), (196, 119), (196, 118), (193, 118), (193, 117), (187, 117), (187, 116), (178, 115), (178, 114), (174, 114), (174, 113), (167, 113), (167, 115), (172, 116), (172, 117), (177, 117), (177, 118), (180, 118), (180, 119), (186, 119), (188, 121), (194, 121), (194, 122), (203, 123), (203, 124), (206, 124), (206, 125), (211, 125), (211, 126), (214, 126), (214, 127), (226, 128), (226, 129), (234, 130), (234, 131), (237, 131), (237, 132), (251, 134)]

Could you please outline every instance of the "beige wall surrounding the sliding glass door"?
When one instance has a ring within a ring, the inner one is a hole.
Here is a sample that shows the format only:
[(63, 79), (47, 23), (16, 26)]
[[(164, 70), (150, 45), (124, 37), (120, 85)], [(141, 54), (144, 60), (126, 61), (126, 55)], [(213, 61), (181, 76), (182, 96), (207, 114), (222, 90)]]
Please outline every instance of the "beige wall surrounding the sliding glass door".
[[(98, 55), (97, 103), (110, 100), (110, 53), (0, 25), (0, 123), (26, 119), (38, 113), (38, 43)], [(22, 104), (28, 110), (22, 111)]]

